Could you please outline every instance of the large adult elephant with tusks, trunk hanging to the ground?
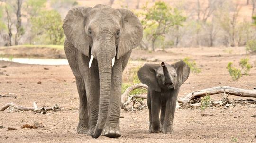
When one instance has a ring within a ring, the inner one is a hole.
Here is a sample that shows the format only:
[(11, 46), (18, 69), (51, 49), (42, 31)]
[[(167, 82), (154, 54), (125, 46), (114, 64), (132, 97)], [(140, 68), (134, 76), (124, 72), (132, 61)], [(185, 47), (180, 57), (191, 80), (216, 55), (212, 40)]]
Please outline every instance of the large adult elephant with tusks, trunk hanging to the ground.
[(143, 36), (139, 19), (127, 9), (75, 7), (65, 17), (63, 29), (80, 99), (77, 132), (93, 138), (121, 136), (122, 71)]

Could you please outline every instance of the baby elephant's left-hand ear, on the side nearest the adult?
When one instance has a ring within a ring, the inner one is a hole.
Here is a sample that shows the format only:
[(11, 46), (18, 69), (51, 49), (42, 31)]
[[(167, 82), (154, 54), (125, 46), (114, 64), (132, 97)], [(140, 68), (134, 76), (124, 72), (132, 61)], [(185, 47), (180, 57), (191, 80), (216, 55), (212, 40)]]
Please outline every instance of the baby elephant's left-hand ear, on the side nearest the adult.
[(157, 83), (156, 71), (160, 67), (158, 64), (145, 64), (138, 70), (139, 80), (157, 92), (161, 92), (161, 88)]

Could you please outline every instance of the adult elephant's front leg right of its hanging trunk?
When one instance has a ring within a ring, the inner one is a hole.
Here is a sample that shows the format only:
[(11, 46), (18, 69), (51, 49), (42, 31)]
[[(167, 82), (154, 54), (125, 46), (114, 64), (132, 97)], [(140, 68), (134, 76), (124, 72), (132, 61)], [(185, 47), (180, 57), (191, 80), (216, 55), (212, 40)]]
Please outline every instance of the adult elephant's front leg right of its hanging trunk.
[(115, 62), (112, 68), (110, 106), (103, 135), (115, 138), (120, 137), (120, 111), (121, 111), (121, 89), (122, 89), (122, 63), (121, 59)]

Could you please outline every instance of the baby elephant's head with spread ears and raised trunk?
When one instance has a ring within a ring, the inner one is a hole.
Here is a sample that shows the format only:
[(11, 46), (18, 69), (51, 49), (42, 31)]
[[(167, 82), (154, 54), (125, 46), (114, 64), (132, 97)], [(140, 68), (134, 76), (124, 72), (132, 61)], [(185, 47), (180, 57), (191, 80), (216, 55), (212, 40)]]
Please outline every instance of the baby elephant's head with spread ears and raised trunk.
[(162, 62), (145, 64), (138, 71), (138, 78), (149, 89), (160, 92), (161, 89), (178, 89), (189, 77), (190, 68), (182, 60), (171, 65)]

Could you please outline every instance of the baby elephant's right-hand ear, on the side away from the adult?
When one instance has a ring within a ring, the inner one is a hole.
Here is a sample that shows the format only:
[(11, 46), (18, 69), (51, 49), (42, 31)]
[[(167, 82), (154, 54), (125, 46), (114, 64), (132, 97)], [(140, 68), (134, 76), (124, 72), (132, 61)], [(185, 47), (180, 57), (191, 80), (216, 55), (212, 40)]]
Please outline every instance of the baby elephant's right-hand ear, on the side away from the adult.
[(174, 84), (174, 89), (179, 88), (189, 77), (190, 67), (182, 60), (172, 64), (177, 72), (177, 81)]

